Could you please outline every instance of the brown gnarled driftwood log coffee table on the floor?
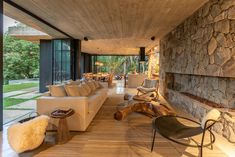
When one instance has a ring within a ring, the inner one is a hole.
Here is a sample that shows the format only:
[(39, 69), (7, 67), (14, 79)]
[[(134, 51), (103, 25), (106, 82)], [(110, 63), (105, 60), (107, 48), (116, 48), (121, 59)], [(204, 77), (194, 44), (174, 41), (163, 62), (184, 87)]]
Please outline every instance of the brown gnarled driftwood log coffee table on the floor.
[(151, 118), (161, 115), (175, 115), (175, 112), (164, 104), (160, 104), (157, 102), (143, 103), (143, 102), (133, 101), (132, 103), (126, 106), (123, 105), (123, 108), (119, 109), (114, 114), (114, 119), (119, 121), (123, 120), (132, 112), (142, 113)]

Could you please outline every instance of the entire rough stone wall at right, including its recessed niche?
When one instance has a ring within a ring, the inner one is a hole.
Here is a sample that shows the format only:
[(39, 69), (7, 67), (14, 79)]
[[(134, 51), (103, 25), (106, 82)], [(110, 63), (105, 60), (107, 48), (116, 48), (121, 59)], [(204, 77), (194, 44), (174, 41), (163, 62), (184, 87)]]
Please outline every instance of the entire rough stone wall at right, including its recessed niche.
[[(235, 107), (235, 0), (209, 0), (163, 37), (159, 63), (160, 93), (180, 110), (201, 119), (211, 109), (180, 92)], [(215, 130), (235, 142), (234, 126), (224, 116)]]

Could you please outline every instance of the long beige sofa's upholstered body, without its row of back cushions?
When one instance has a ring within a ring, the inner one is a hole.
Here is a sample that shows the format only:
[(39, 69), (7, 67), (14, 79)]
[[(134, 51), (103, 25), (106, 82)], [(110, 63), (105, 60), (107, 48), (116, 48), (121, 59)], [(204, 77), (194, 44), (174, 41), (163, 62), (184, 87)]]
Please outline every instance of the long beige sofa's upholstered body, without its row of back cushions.
[[(56, 109), (72, 108), (75, 110), (75, 114), (67, 118), (69, 129), (72, 131), (85, 131), (107, 99), (107, 93), (108, 89), (105, 87), (97, 89), (87, 97), (53, 97), (49, 93), (45, 93), (37, 99), (37, 112), (50, 115)], [(50, 124), (48, 130), (55, 130), (58, 119), (51, 118)]]

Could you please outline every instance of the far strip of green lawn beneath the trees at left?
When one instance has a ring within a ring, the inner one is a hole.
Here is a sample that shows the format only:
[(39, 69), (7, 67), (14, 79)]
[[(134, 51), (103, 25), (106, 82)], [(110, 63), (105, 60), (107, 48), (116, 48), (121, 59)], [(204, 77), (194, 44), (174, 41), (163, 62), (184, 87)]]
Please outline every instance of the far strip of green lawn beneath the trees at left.
[(3, 86), (3, 93), (17, 91), (21, 89), (37, 87), (38, 83), (21, 83), (21, 84), (10, 84)]

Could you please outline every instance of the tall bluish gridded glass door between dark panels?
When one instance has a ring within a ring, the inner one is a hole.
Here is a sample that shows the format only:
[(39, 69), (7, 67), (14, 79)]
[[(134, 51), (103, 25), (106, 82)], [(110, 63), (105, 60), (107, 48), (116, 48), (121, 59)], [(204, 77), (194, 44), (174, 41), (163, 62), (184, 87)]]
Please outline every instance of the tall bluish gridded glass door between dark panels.
[(71, 76), (70, 40), (54, 40), (53, 53), (53, 84), (59, 84)]

